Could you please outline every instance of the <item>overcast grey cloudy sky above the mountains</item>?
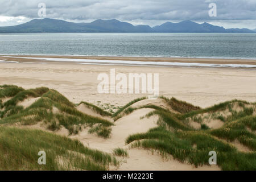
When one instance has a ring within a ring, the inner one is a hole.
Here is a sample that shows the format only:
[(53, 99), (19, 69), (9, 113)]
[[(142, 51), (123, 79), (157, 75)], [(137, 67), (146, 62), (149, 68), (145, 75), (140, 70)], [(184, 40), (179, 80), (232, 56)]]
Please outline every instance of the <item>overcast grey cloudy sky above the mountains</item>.
[[(216, 17), (208, 15), (211, 2), (217, 5)], [(0, 0), (0, 26), (40, 18), (39, 3), (46, 4), (46, 18), (70, 22), (115, 18), (155, 26), (190, 19), (225, 28), (256, 28), (256, 0)]]

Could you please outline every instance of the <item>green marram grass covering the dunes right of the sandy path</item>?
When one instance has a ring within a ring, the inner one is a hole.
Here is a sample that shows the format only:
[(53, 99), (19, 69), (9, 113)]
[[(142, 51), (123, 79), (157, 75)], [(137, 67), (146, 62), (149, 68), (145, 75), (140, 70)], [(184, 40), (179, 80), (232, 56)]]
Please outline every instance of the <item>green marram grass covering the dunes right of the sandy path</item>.
[[(234, 103), (240, 104), (243, 110), (240, 112), (232, 110), (230, 104)], [(234, 100), (207, 109), (199, 109), (198, 107), (194, 110), (184, 109), (193, 108), (193, 106), (188, 104), (187, 107), (186, 102), (180, 102), (180, 106), (183, 108), (180, 114), (155, 107), (155, 111), (151, 111), (145, 117), (158, 115), (159, 127), (151, 129), (147, 133), (130, 135), (126, 139), (126, 143), (133, 142), (132, 147), (158, 151), (163, 157), (171, 154), (175, 159), (181, 162), (187, 161), (196, 167), (209, 165), (208, 153), (209, 151), (216, 151), (217, 164), (223, 170), (256, 170), (256, 116), (253, 115), (255, 107), (247, 108), (245, 107), (246, 104), (255, 105)], [(179, 108), (180, 106), (176, 105), (175, 107)], [(186, 121), (186, 118), (196, 114), (213, 114), (227, 108), (232, 114), (228, 119), (225, 119), (224, 125), (219, 129), (209, 129), (207, 126), (207, 128), (203, 127), (201, 130), (196, 130), (189, 126)], [(184, 110), (188, 110), (188, 113), (184, 113)], [(238, 151), (236, 147), (228, 143), (236, 139), (250, 148), (251, 152)]]

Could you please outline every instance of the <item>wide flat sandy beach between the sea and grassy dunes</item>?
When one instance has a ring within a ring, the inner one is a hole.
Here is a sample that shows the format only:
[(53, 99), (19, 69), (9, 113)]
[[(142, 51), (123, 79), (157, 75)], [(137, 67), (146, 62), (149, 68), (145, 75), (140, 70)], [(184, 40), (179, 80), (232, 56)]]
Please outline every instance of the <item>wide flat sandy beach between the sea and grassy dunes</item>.
[[(30, 56), (31, 57), (31, 56)], [(36, 56), (35, 56), (36, 57)], [(44, 56), (45, 57), (45, 56)], [(52, 56), (51, 56), (52, 57)], [(59, 56), (55, 56), (59, 57)], [(61, 56), (65, 57), (65, 56)], [(70, 57), (70, 56), (69, 56)], [(65, 57), (66, 58), (66, 57)], [(77, 57), (76, 57), (77, 58)], [(86, 57), (83, 57), (86, 58)], [(87, 57), (88, 58), (88, 57)], [(94, 57), (93, 59), (102, 57)], [(115, 57), (111, 57), (114, 59)], [(144, 94), (99, 94), (97, 85), (100, 73), (159, 73), (159, 95), (176, 97), (201, 107), (211, 106), (228, 100), (256, 101), (255, 69), (237, 68), (189, 68), (189, 67), (135, 67), (123, 65), (87, 65), (70, 62), (56, 62), (1, 57), (0, 60), (20, 63), (0, 63), (0, 82), (23, 88), (47, 86), (58, 90), (72, 102), (88, 101), (123, 106)], [(105, 57), (106, 59), (106, 57)], [(118, 59), (116, 57), (115, 59)], [(120, 59), (120, 57), (119, 57)], [(125, 59), (122, 57), (122, 59)], [(130, 57), (127, 59), (139, 59)], [(155, 59), (155, 58), (151, 58)], [(141, 60), (147, 60), (141, 59)], [(179, 59), (187, 61), (187, 59)], [(176, 60), (175, 60), (176, 61)], [(190, 61), (194, 61), (191, 59)], [(222, 60), (201, 60), (222, 61)], [(225, 60), (229, 63), (256, 64), (255, 60)], [(47, 64), (42, 64), (47, 63)], [(214, 62), (215, 63), (215, 62)]]

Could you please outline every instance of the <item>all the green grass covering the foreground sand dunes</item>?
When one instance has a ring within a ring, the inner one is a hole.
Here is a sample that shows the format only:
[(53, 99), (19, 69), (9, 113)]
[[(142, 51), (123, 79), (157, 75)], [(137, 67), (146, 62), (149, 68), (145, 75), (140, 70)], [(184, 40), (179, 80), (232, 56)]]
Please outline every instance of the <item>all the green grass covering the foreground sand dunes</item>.
[[(26, 108), (18, 105), (30, 97), (37, 97), (38, 100)], [(154, 109), (141, 119), (157, 115), (158, 127), (146, 133), (130, 135), (126, 143), (131, 147), (157, 151), (164, 158), (172, 155), (180, 162), (188, 162), (196, 167), (209, 165), (209, 151), (216, 151), (217, 165), (222, 170), (256, 170), (256, 103), (233, 100), (201, 109), (175, 98), (160, 98), (170, 106), (170, 110), (154, 104), (130, 107), (146, 97), (129, 102), (113, 115), (88, 102), (80, 104), (114, 120), (134, 110)], [(82, 113), (76, 106), (56, 90), (0, 86), (0, 169), (103, 170), (110, 166), (117, 167), (119, 162), (112, 155), (90, 150), (77, 140), (46, 131), (14, 127), (15, 123), (34, 125), (43, 122), (52, 131), (65, 127), (69, 134), (77, 134), (84, 127), (89, 127), (89, 133), (103, 138), (111, 137), (112, 122)], [(223, 125), (211, 129), (206, 121), (213, 120)], [(201, 128), (195, 129), (191, 122), (200, 123)], [(235, 141), (249, 151), (241, 151), (232, 144)], [(46, 151), (48, 156), (46, 166), (37, 163), (41, 150)], [(128, 152), (115, 148), (113, 155), (128, 156)]]

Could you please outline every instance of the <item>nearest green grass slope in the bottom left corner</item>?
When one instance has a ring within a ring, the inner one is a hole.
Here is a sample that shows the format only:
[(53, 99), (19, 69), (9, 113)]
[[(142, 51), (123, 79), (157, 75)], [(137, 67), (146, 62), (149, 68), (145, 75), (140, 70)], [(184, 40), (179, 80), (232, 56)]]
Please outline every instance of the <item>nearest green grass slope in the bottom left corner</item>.
[[(38, 152), (46, 152), (46, 165)], [(118, 160), (78, 140), (40, 130), (0, 127), (0, 170), (107, 170)]]

